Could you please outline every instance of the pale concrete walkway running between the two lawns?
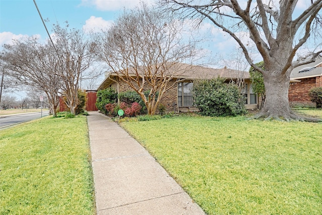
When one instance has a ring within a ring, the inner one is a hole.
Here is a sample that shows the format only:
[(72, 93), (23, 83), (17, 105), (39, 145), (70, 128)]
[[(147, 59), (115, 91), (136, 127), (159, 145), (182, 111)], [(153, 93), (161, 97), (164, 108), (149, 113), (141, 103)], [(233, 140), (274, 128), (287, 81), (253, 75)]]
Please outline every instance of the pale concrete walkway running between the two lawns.
[(88, 116), (97, 214), (205, 214), (148, 152), (107, 116)]

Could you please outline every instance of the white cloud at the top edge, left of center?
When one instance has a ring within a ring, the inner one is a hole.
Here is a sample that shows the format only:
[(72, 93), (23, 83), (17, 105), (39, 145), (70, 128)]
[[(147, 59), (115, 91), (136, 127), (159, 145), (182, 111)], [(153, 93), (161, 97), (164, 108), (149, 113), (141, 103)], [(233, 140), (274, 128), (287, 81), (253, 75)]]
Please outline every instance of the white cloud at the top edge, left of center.
[[(95, 6), (100, 11), (117, 11), (122, 8), (134, 8), (138, 6), (140, 0), (82, 0), (81, 6)], [(150, 5), (154, 0), (145, 0)]]

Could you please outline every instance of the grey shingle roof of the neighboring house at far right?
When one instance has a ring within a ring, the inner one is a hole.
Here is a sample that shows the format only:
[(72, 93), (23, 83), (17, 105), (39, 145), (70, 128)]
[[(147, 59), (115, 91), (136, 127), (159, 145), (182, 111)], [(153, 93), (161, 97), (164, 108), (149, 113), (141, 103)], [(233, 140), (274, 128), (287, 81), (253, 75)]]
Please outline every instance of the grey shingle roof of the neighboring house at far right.
[[(301, 71), (304, 69), (305, 71)], [(311, 62), (294, 68), (291, 72), (290, 78), (304, 79), (317, 76), (322, 76), (322, 57), (317, 58), (315, 62)]]

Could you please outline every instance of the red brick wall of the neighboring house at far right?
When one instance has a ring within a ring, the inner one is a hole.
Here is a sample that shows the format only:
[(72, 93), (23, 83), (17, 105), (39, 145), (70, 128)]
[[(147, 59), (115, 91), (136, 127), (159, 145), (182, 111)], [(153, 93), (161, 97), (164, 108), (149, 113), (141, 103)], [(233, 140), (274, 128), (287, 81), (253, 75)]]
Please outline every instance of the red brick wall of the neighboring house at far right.
[(291, 83), (288, 89), (288, 99), (290, 106), (302, 105), (302, 106), (314, 106), (308, 96), (309, 91), (317, 87), (317, 79), (321, 77), (301, 79), (301, 82)]

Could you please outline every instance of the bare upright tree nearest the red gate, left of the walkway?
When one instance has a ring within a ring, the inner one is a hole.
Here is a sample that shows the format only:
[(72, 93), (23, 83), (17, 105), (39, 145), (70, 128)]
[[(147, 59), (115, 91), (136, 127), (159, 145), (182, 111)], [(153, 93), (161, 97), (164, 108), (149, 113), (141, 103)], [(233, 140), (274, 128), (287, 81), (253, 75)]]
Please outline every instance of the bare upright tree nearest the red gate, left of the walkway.
[(58, 76), (63, 82), (62, 91), (66, 96), (66, 105), (75, 114), (79, 81), (84, 79), (82, 76), (86, 75), (86, 70), (94, 62), (96, 46), (81, 30), (69, 30), (68, 24), (65, 28), (54, 25), (53, 39), (59, 55)]

